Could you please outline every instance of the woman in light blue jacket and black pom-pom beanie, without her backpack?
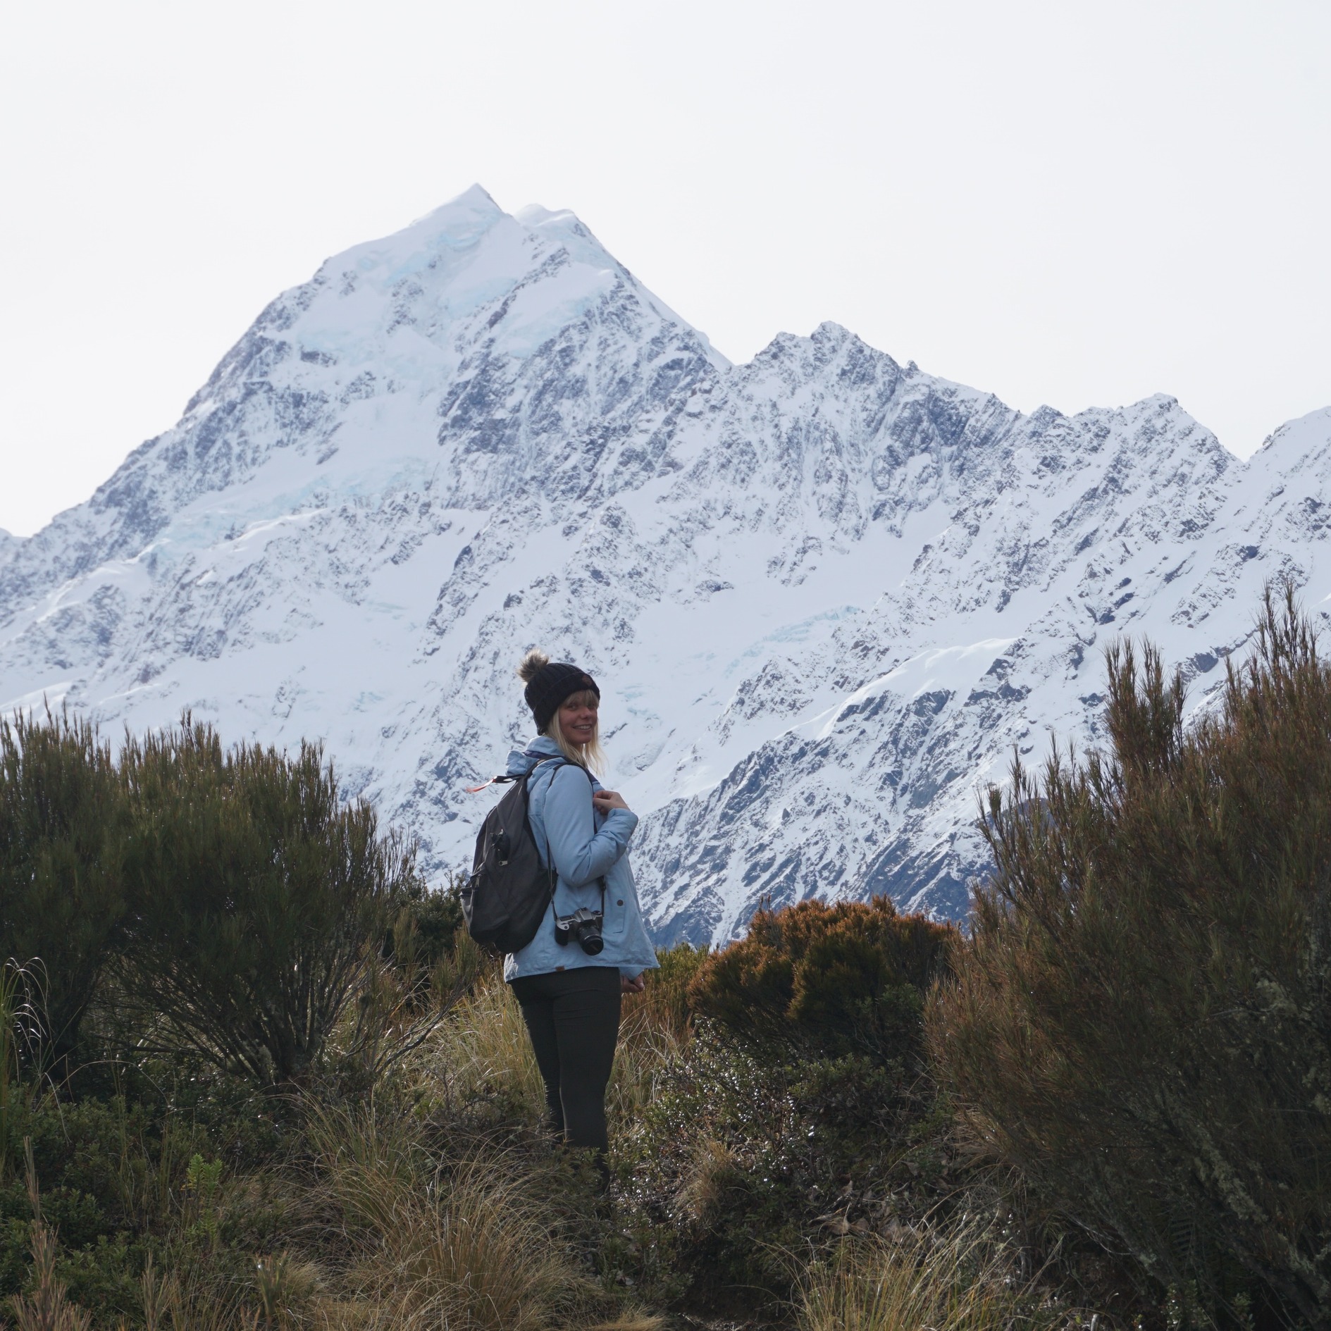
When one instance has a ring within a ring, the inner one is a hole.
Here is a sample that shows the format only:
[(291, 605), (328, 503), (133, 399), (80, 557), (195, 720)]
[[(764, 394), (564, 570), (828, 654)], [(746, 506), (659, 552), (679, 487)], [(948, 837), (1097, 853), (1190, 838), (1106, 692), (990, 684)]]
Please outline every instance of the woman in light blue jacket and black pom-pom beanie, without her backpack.
[(638, 815), (592, 775), (604, 769), (604, 753), (591, 675), (530, 651), (518, 677), (538, 733), (508, 755), (508, 775), (532, 772), (531, 832), (558, 878), (536, 937), (508, 954), (503, 974), (522, 1005), (556, 1129), (571, 1146), (595, 1150), (604, 1169), (620, 996), (642, 993), (643, 972), (656, 965), (628, 868)]

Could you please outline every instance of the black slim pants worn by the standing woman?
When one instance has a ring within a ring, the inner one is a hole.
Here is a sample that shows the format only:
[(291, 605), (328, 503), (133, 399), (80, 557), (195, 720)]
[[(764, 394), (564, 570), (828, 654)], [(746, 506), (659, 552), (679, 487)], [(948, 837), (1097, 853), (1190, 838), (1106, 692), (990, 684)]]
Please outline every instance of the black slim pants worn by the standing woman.
[(619, 1040), (618, 968), (520, 976), (512, 992), (522, 1004), (555, 1127), (570, 1146), (604, 1154), (606, 1086)]

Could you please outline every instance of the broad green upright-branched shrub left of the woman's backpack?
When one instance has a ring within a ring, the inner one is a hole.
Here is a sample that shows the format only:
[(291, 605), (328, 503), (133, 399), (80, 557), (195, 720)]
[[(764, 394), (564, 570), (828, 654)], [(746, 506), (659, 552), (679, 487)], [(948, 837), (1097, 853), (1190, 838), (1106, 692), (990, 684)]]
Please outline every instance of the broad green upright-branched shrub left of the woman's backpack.
[(297, 757), (186, 721), (121, 757), (125, 989), (218, 1063), (301, 1079), (375, 964), (414, 849)]

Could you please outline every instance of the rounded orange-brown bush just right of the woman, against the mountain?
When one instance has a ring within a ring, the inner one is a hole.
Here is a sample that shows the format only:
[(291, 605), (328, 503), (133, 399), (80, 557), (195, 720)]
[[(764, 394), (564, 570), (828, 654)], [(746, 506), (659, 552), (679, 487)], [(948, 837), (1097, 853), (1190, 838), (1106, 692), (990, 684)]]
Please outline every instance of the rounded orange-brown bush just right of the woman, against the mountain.
[(886, 897), (759, 910), (741, 941), (701, 965), (689, 1002), (763, 1044), (910, 1058), (924, 990), (954, 937), (952, 925), (897, 914)]

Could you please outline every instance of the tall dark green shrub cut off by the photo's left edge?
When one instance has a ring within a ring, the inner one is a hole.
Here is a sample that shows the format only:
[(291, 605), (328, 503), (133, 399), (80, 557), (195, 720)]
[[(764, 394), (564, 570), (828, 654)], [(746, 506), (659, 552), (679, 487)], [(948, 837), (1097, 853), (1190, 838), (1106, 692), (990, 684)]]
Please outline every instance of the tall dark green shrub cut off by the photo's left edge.
[(0, 723), (0, 962), (27, 968), (57, 1074), (124, 912), (110, 749), (67, 712)]

